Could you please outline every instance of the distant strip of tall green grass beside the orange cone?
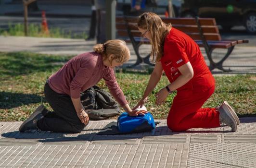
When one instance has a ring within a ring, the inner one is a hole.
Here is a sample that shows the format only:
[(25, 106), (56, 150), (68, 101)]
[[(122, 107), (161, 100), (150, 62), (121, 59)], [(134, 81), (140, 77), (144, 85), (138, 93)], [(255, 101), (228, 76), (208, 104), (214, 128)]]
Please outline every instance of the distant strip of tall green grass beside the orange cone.
[[(75, 34), (71, 31), (64, 32), (59, 27), (50, 27), (49, 34), (42, 32), (40, 24), (28, 24), (28, 36), (32, 37), (52, 37), (52, 38), (87, 38), (87, 34)], [(7, 30), (0, 29), (0, 35), (2, 36), (25, 36), (24, 24), (9, 24)]]

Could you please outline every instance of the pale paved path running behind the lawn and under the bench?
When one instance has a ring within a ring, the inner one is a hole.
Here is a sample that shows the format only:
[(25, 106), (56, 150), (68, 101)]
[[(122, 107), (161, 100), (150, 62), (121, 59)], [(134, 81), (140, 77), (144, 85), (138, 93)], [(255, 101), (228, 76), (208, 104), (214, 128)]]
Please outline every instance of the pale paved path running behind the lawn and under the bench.
[[(43, 54), (56, 55), (77, 55), (93, 50), (96, 41), (85, 41), (84, 39), (63, 39), (63, 38), (37, 38), (37, 37), (18, 37), (0, 36), (0, 52), (29, 51)], [(136, 62), (136, 55), (131, 44), (128, 43), (131, 52), (130, 60), (124, 67)], [(201, 48), (205, 61), (208, 64), (204, 48)], [(150, 52), (150, 45), (142, 45), (141, 55), (146, 56)], [(213, 59), (220, 59), (219, 55), (224, 55), (226, 49), (216, 49), (213, 51)], [(230, 57), (224, 62), (224, 68), (231, 69), (228, 74), (256, 73), (256, 47), (239, 47), (237, 45)], [(146, 69), (147, 65), (139, 65), (135, 69)], [(226, 74), (219, 70), (214, 70), (214, 74)]]

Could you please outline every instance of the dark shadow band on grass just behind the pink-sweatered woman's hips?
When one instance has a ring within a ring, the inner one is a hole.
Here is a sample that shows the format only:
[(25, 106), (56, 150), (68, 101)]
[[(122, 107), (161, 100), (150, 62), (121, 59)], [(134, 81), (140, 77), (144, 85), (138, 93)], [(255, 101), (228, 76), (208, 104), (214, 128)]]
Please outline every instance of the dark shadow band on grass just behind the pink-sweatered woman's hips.
[(0, 109), (15, 108), (31, 103), (44, 102), (43, 96), (12, 92), (0, 92)]

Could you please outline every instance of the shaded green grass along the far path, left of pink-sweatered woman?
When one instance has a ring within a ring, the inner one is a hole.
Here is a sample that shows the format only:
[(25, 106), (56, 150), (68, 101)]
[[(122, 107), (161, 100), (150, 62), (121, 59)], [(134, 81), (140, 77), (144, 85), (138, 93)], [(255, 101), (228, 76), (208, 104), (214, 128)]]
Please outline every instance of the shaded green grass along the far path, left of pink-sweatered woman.
[(28, 52), (0, 53), (0, 74), (16, 76), (32, 72), (51, 71), (61, 67), (70, 57), (50, 56)]

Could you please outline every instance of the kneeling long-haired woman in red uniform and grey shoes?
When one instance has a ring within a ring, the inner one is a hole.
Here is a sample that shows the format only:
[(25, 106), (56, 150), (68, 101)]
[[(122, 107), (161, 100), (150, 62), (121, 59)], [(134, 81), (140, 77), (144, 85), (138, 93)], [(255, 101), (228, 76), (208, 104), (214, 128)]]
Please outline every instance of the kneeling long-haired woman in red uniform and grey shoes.
[(156, 94), (156, 104), (163, 104), (168, 94), (177, 90), (167, 117), (167, 126), (172, 131), (214, 128), (221, 124), (236, 131), (239, 119), (226, 101), (219, 108), (201, 108), (214, 93), (215, 79), (192, 38), (171, 27), (171, 24), (163, 23), (152, 12), (139, 16), (138, 29), (152, 44), (151, 60), (155, 62), (155, 67), (144, 95), (135, 108), (147, 101), (165, 72), (171, 84)]

